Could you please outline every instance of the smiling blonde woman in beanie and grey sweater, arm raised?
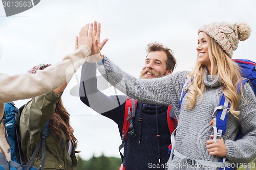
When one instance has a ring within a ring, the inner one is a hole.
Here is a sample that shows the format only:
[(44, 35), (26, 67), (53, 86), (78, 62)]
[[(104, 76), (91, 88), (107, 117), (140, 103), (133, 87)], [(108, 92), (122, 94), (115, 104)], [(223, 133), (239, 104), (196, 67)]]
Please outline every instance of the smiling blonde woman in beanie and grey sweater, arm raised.
[[(101, 74), (119, 90), (140, 102), (173, 106), (179, 126), (174, 155), (166, 165), (169, 169), (217, 169), (223, 166), (217, 163), (221, 157), (233, 162), (229, 165), (248, 163), (256, 157), (255, 95), (248, 83), (241, 86), (239, 67), (231, 60), (239, 40), (249, 38), (250, 31), (245, 23), (204, 25), (198, 30), (195, 68), (152, 80), (137, 80), (101, 56)], [(179, 109), (185, 80), (189, 80), (184, 89), (187, 92)], [(227, 129), (214, 141), (210, 122), (222, 94), (230, 102)], [(243, 137), (234, 141), (240, 127)]]

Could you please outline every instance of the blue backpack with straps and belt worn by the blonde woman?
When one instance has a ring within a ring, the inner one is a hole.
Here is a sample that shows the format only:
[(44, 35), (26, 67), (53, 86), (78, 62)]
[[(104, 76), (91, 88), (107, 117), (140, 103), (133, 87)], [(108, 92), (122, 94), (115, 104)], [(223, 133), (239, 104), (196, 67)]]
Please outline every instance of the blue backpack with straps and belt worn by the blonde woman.
[[(256, 96), (256, 69), (255, 65), (256, 63), (250, 60), (244, 60), (244, 59), (233, 59), (234, 62), (236, 62), (240, 68), (241, 68), (241, 75), (244, 77), (242, 80), (242, 85), (244, 85), (246, 82), (248, 82)], [(191, 81), (191, 80), (190, 80)], [(183, 84), (183, 88), (181, 91), (181, 97), (180, 97), (180, 106), (182, 100), (186, 94), (186, 91), (183, 90), (185, 87), (187, 87), (189, 83), (189, 80), (186, 80)], [(240, 90), (240, 87), (238, 88), (238, 91)], [(211, 120), (212, 127), (214, 128), (214, 141), (216, 139), (220, 139), (226, 132), (227, 129), (227, 117), (228, 117), (228, 108), (230, 107), (230, 103), (225, 99), (224, 94), (221, 97), (219, 106), (215, 108), (215, 112), (217, 112), (217, 116), (214, 117)], [(175, 140), (174, 136), (171, 136), (172, 138), (172, 143)], [(237, 137), (235, 140), (241, 139), (242, 138), (242, 132), (239, 130)], [(175, 143), (175, 142), (174, 142)], [(185, 161), (191, 161), (191, 162), (197, 162), (201, 165), (225, 165), (226, 170), (233, 170), (236, 169), (237, 167), (230, 166), (230, 161), (228, 161), (226, 158), (221, 158), (218, 163), (216, 162), (209, 162), (209, 161), (201, 161), (201, 160), (189, 160), (186, 159), (186, 156), (183, 156), (182, 154), (178, 153), (177, 151), (172, 151), (171, 158), (173, 158), (173, 154), (180, 157), (181, 159), (184, 159)], [(219, 167), (220, 170), (224, 169), (222, 166)]]

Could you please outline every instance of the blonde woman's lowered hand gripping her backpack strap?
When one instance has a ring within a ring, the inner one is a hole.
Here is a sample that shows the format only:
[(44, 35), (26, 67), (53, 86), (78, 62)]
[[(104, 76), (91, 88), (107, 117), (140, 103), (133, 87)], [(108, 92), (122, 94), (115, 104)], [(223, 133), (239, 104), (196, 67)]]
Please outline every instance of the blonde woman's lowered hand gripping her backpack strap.
[[(213, 138), (214, 135), (210, 135), (210, 137)], [(223, 138), (217, 139), (216, 143), (213, 139), (207, 140), (206, 148), (208, 149), (210, 155), (215, 155), (219, 157), (227, 156), (227, 148)]]

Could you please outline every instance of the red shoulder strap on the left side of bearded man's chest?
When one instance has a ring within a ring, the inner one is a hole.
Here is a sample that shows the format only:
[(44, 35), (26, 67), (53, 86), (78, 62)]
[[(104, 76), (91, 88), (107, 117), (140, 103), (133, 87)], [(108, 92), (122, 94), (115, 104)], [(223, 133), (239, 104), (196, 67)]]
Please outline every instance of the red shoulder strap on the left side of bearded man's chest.
[[(132, 136), (136, 136), (136, 134), (134, 133), (134, 128), (133, 128), (133, 118), (135, 116), (137, 103), (138, 103), (138, 101), (127, 96), (126, 101), (125, 101), (123, 127), (122, 127), (122, 134), (121, 134), (122, 143), (119, 146), (119, 152), (124, 147), (124, 143), (127, 140), (128, 134), (132, 135)], [(130, 132), (129, 132), (129, 130), (130, 130)], [(120, 152), (120, 155), (123, 160), (123, 155), (121, 152)]]

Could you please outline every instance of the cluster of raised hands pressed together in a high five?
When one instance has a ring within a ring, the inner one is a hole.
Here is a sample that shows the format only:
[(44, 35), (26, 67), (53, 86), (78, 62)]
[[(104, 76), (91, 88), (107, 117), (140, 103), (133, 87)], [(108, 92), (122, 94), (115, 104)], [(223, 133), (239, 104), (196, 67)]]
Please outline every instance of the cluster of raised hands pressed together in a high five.
[[(79, 33), (79, 37), (76, 36), (75, 50), (77, 50), (81, 45), (88, 45), (91, 48), (91, 56), (88, 58), (88, 62), (99, 62), (102, 59), (100, 50), (103, 48), (108, 39), (104, 39), (102, 42), (100, 42), (100, 29), (100, 23), (94, 21), (94, 23), (91, 23), (90, 25), (88, 23), (86, 26), (82, 27)], [(90, 39), (90, 37), (91, 44), (90, 42), (85, 44), (85, 41), (89, 41), (88, 39)]]

